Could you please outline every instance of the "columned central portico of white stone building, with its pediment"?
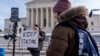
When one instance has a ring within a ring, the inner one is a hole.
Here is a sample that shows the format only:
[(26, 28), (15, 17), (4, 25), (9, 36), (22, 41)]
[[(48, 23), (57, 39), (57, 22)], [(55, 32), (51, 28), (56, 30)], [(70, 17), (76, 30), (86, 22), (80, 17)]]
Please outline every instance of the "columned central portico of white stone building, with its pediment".
[(26, 3), (27, 26), (33, 28), (38, 24), (42, 30), (51, 32), (56, 21), (53, 17), (53, 7), (58, 0), (33, 0)]

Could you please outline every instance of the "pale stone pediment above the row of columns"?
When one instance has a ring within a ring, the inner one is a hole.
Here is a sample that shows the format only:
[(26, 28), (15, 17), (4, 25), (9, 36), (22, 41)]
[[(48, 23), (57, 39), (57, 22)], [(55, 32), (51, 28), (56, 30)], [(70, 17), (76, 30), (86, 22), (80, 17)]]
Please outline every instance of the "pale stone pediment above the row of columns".
[(58, 0), (34, 0), (26, 3), (27, 8), (53, 7)]

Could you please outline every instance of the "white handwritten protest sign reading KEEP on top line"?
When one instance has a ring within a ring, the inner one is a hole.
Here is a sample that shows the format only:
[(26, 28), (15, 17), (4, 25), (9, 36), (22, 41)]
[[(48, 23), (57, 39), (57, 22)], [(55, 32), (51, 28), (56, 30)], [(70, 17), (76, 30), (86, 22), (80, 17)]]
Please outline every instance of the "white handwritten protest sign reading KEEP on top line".
[(38, 36), (37, 30), (26, 30), (21, 33), (20, 46), (38, 48)]

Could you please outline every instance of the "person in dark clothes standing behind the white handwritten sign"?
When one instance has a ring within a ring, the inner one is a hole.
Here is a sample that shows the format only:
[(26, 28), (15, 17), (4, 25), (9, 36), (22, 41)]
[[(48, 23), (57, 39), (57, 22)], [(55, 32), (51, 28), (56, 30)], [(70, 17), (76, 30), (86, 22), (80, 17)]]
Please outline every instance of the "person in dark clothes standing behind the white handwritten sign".
[(43, 32), (38, 25), (34, 25), (34, 30), (39, 30), (39, 47), (38, 48), (28, 48), (32, 56), (39, 56), (40, 51), (43, 47), (43, 40), (45, 38), (45, 32)]

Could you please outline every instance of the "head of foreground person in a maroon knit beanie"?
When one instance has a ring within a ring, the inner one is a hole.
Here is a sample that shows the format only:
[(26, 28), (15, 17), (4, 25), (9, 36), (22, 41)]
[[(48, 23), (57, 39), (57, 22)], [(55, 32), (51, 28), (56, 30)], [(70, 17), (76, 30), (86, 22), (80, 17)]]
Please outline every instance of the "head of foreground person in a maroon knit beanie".
[(54, 17), (59, 21), (58, 16), (71, 8), (71, 3), (68, 0), (59, 0), (53, 8)]

